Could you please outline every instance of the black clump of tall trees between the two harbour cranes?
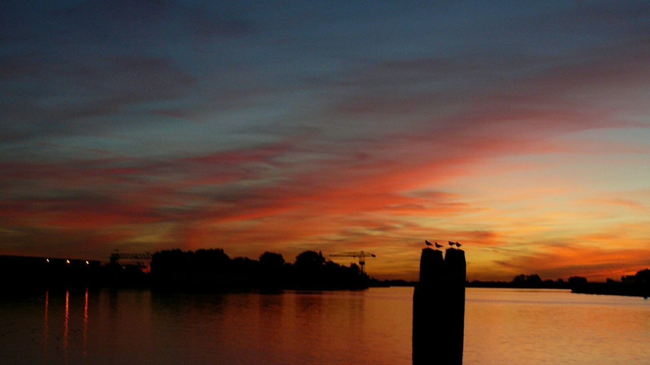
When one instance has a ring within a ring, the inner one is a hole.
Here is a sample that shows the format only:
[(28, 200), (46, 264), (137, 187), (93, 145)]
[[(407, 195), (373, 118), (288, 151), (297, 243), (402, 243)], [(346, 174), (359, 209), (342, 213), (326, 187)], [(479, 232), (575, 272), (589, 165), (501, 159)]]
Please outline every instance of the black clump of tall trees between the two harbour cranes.
[(369, 277), (357, 264), (342, 266), (322, 253), (304, 251), (293, 264), (279, 253), (259, 260), (230, 258), (223, 249), (159, 251), (151, 259), (151, 284), (159, 290), (238, 291), (363, 289)]

